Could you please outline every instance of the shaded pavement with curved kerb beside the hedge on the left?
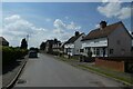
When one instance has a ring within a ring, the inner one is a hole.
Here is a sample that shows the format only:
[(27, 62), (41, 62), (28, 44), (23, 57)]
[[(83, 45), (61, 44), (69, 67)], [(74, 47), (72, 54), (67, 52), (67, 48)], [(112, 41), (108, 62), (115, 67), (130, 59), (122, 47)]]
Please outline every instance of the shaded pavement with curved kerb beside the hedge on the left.
[(2, 88), (10, 88), (19, 75), (21, 73), (22, 68), (24, 67), (28, 57), (25, 56), (22, 59), (17, 59), (17, 61), (10, 62), (8, 66), (2, 68)]

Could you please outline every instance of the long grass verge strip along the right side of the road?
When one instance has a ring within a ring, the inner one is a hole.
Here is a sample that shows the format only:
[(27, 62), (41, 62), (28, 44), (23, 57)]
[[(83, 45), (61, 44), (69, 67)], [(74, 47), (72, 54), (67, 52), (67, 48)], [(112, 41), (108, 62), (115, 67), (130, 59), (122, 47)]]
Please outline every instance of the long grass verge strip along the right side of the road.
[[(111, 70), (111, 69), (106, 69), (106, 68), (100, 68), (96, 66), (86, 66), (84, 63), (79, 65), (79, 63), (75, 63), (75, 62), (78, 62), (78, 60), (72, 59), (72, 58), (66, 59), (64, 57), (58, 57), (58, 59), (65, 61), (65, 62), (69, 62), (74, 67), (80, 67), (80, 68), (82, 68), (84, 70), (89, 70), (89, 71), (91, 70), (92, 72), (96, 72), (99, 75), (106, 76), (106, 77), (113, 78), (115, 80), (122, 81), (126, 86), (133, 86), (133, 79), (131, 79), (132, 77), (126, 77), (126, 76), (122, 77), (122, 76), (117, 75), (117, 73), (124, 73), (124, 72), (119, 72), (119, 71)], [(109, 71), (111, 71), (113, 73), (111, 73)]]

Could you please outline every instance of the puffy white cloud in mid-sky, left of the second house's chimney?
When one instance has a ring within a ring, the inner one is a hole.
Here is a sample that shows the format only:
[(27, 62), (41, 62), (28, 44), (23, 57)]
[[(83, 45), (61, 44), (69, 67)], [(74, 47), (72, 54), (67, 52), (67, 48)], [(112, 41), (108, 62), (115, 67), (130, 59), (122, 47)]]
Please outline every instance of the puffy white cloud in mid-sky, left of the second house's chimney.
[(80, 30), (81, 27), (71, 21), (70, 23), (64, 23), (61, 19), (55, 19), (53, 22), (55, 29), (53, 29), (54, 38), (62, 41), (66, 41), (71, 36), (73, 36), (75, 30)]

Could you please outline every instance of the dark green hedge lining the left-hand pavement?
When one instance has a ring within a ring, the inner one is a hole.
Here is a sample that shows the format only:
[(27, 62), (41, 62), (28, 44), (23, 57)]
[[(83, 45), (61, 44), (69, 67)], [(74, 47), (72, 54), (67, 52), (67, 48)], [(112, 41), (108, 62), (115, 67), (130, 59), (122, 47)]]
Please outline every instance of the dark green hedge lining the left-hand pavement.
[(12, 47), (2, 47), (2, 63), (16, 61), (27, 55), (28, 50)]

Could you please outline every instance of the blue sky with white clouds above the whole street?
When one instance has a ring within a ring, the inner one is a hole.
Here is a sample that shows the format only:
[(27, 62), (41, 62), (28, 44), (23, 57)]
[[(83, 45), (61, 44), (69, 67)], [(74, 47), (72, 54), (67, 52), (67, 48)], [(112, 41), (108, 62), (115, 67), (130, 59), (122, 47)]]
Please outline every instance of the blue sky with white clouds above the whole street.
[(54, 38), (63, 42), (75, 31), (88, 34), (102, 20), (122, 21), (131, 31), (130, 2), (2, 2), (1, 14), (0, 36), (13, 47), (28, 34), (29, 48)]

